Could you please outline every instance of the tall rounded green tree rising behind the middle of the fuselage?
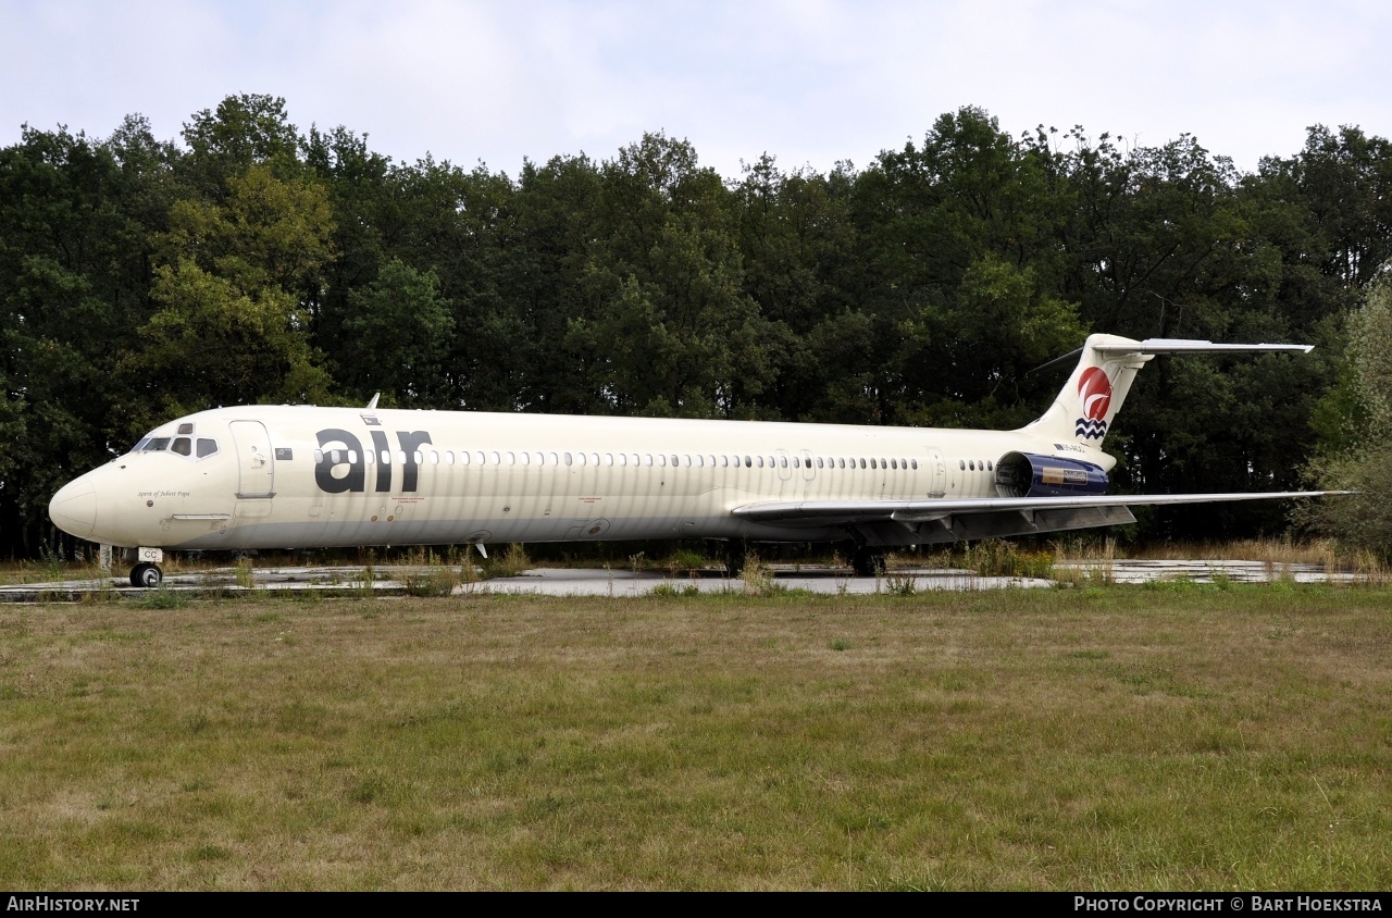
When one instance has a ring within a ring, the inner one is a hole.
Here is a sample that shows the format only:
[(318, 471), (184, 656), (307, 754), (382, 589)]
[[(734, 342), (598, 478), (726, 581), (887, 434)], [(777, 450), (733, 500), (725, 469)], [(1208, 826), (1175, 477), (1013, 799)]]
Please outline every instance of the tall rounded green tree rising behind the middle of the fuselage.
[(778, 333), (743, 290), (734, 199), (685, 141), (644, 135), (604, 163), (571, 319), (594, 401), (617, 414), (748, 417)]

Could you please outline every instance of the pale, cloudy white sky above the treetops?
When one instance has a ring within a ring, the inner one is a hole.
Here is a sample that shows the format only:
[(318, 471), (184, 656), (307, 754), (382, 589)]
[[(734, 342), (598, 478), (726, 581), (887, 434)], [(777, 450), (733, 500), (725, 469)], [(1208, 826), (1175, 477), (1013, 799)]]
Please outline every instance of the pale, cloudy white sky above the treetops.
[(1392, 135), (1389, 39), (1377, 0), (0, 0), (0, 145), (129, 113), (173, 139), (246, 92), (395, 160), (515, 174), (665, 131), (732, 177), (864, 166), (974, 104), (1251, 170), (1310, 124)]

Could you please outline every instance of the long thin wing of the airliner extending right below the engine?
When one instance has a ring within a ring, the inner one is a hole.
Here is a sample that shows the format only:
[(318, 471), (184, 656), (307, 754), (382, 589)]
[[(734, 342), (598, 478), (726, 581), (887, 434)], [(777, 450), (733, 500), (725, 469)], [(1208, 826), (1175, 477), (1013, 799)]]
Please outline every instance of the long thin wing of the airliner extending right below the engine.
[(1229, 495), (1086, 495), (1077, 497), (965, 497), (928, 500), (761, 500), (735, 507), (731, 513), (752, 522), (849, 524), (930, 522), (949, 517), (1019, 513), (1029, 518), (1037, 511), (1102, 510), (1164, 504), (1226, 503), (1233, 500), (1279, 500), (1342, 495), (1335, 490), (1282, 490)]

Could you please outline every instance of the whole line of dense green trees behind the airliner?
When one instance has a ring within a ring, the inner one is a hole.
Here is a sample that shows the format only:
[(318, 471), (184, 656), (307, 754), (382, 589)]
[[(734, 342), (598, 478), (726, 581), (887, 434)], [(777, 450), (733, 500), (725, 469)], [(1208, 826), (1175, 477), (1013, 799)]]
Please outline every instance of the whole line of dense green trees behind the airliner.
[[(1008, 428), (1090, 332), (1315, 344), (1155, 361), (1107, 440), (1121, 490), (1296, 489), (1366, 440), (1350, 316), (1389, 249), (1392, 146), (1356, 127), (1242, 173), (1189, 135), (965, 107), (864, 167), (729, 180), (663, 134), (516, 176), (400, 163), (253, 95), (181, 142), (25, 128), (0, 150), (0, 553), (58, 545), (63, 482), (209, 407)], [(1286, 525), (1172, 508), (1139, 535)]]

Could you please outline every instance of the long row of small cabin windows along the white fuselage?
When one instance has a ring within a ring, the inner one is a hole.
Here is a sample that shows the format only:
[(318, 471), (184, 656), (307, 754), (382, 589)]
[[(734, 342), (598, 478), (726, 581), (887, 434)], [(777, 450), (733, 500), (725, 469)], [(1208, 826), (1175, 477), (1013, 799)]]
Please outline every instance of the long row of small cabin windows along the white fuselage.
[[(327, 456), (331, 465), (338, 465), (340, 462), (358, 462), (358, 450), (315, 450), (315, 462), (323, 462)], [(372, 465), (380, 461), (383, 465), (391, 465), (393, 458), (397, 462), (405, 464), (406, 454), (402, 450), (397, 450), (395, 457), (393, 457), (391, 450), (380, 450), (380, 453), (365, 453), (363, 461)], [(416, 450), (411, 457), (416, 465), (454, 465), (455, 454), (450, 450), (438, 453), (436, 450), (422, 451)], [(672, 468), (812, 468), (816, 462), (817, 468), (873, 468), (873, 469), (894, 469), (894, 471), (908, 471), (917, 469), (919, 460), (906, 458), (846, 458), (846, 457), (800, 457), (800, 456), (679, 456), (679, 454), (657, 454), (653, 453), (504, 453), (498, 450), (493, 451), (476, 451), (466, 453), (461, 451), (458, 454), (459, 465), (635, 465), (635, 467), (667, 467)]]

